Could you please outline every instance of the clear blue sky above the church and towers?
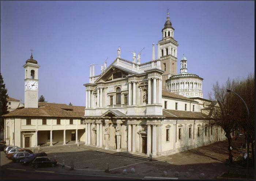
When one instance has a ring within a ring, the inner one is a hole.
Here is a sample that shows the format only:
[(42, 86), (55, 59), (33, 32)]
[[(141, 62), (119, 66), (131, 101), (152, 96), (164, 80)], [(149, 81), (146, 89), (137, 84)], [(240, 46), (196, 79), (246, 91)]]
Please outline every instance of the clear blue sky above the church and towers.
[[(48, 102), (85, 105), (89, 65), (112, 63), (162, 39), (169, 7), (188, 72), (203, 80), (204, 98), (212, 85), (254, 72), (254, 1), (0, 1), (1, 74), (8, 95), (24, 102), (25, 61), (32, 48), (39, 68), (39, 96)], [(95, 74), (100, 67), (95, 66)]]

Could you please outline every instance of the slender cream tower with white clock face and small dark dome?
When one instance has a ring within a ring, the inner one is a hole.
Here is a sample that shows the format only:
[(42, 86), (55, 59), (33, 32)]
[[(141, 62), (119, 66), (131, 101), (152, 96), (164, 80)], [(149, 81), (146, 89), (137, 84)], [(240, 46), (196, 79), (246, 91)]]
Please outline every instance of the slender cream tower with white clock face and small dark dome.
[(37, 61), (33, 59), (31, 50), (30, 59), (23, 65), (25, 69), (25, 108), (38, 108), (38, 69)]

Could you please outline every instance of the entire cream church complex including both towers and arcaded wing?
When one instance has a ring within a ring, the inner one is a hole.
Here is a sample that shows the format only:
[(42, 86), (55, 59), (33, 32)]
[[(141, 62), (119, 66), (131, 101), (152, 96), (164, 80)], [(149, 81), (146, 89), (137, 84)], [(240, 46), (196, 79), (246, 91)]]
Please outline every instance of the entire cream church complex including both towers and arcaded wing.
[[(88, 147), (145, 157), (151, 153), (157, 158), (225, 139), (220, 127), (209, 124), (211, 101), (202, 98), (202, 78), (194, 76), (200, 84), (188, 86), (200, 87), (195, 93), (201, 94), (182, 95), (185, 86), (176, 91), (174, 84), (188, 78), (178, 77), (177, 47), (167, 14), (157, 58), (153, 43), (152, 59), (147, 62), (141, 63), (140, 55), (136, 61), (135, 53), (133, 61), (121, 58), (118, 47), (117, 58), (108, 67), (105, 62), (99, 75), (90, 65), (89, 82), (84, 84), (86, 107), (38, 103), (40, 66), (31, 54), (23, 66), (25, 107), (4, 115), (7, 144), (37, 147), (80, 140)], [(185, 57), (181, 63), (187, 63)], [(181, 73), (187, 73), (185, 68)]]

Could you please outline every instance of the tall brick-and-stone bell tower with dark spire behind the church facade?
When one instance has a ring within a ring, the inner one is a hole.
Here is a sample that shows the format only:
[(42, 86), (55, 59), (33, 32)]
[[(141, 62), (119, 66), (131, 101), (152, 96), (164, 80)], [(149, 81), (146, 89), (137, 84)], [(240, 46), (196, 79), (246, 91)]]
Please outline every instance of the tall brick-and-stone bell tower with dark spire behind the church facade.
[(162, 40), (158, 41), (157, 46), (157, 59), (161, 59), (161, 69), (165, 71), (162, 74), (162, 87), (166, 88), (165, 81), (177, 74), (178, 42), (174, 39), (174, 28), (170, 22), (169, 11), (162, 29)]

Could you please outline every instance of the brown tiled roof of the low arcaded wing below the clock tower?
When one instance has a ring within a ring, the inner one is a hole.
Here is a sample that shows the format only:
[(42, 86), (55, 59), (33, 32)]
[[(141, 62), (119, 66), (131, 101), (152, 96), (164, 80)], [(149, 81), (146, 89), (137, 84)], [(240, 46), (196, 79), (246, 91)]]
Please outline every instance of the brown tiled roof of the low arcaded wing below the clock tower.
[(73, 106), (57, 103), (38, 103), (38, 108), (21, 108), (11, 111), (4, 117), (54, 117), (81, 118), (84, 116), (83, 106)]

